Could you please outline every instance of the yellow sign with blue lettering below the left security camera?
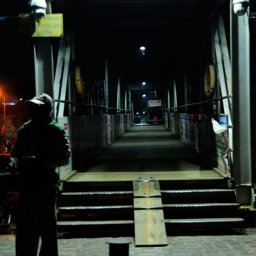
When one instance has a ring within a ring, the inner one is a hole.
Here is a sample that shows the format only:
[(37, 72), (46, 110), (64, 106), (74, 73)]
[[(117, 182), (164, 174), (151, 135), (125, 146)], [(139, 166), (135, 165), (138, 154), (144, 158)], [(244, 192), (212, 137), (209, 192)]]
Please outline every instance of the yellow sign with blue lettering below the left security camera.
[(63, 15), (46, 14), (38, 21), (31, 14), (20, 14), (20, 34), (31, 37), (63, 37)]

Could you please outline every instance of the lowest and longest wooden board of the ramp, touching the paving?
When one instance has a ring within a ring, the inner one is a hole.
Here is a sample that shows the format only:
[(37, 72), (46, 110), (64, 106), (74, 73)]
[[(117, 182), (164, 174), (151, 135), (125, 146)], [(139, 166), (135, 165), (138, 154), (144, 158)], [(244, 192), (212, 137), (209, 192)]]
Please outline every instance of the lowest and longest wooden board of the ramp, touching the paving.
[(136, 246), (167, 245), (163, 210), (135, 210), (134, 225)]

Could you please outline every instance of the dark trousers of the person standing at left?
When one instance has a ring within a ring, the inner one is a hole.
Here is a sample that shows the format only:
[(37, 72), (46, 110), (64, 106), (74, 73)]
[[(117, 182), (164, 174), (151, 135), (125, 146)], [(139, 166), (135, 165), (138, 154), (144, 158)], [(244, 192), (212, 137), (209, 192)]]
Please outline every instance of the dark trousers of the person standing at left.
[(16, 226), (16, 255), (58, 256), (57, 194), (19, 193)]

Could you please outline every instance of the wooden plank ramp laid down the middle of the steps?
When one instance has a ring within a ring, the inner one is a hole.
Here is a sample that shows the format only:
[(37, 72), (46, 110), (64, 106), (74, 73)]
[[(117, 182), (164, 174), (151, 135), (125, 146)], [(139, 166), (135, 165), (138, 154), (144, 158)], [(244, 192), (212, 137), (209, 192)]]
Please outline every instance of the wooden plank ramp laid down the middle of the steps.
[(167, 245), (159, 182), (133, 181), (135, 246)]

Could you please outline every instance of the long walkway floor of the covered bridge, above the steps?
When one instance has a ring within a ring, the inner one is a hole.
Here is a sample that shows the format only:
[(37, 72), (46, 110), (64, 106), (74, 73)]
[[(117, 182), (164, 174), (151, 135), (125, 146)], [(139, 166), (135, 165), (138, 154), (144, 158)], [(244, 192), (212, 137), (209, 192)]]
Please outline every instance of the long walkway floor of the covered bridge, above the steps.
[(163, 125), (133, 126), (81, 171), (68, 181), (222, 179)]

